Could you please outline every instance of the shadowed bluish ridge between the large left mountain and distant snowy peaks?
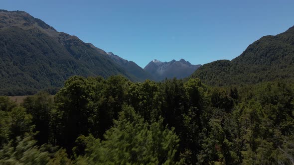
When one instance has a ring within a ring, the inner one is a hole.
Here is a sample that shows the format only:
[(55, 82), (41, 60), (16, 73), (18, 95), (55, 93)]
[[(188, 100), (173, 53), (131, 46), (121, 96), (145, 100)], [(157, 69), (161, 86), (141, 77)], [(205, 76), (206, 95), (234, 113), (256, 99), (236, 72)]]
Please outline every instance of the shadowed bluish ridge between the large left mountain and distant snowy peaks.
[(117, 55), (114, 55), (112, 52), (109, 52), (107, 54), (114, 62), (116, 62), (119, 66), (123, 67), (128, 73), (138, 78), (138, 81), (142, 82), (147, 79), (154, 80), (154, 78), (147, 71), (139, 67), (133, 61), (125, 60)]

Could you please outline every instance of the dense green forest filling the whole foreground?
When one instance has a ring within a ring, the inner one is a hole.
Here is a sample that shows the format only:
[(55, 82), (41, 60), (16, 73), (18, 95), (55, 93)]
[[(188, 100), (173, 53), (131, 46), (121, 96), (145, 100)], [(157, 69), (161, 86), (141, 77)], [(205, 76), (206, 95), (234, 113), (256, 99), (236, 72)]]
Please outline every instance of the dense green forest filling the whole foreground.
[(0, 97), (0, 164), (294, 164), (294, 85), (211, 87), (74, 76)]

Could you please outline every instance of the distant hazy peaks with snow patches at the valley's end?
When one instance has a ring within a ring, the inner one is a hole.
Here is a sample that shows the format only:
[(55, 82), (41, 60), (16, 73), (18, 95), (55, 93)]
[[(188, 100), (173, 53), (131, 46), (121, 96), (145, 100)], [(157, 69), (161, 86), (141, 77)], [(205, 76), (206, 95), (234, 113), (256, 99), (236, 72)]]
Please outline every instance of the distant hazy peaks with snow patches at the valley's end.
[(150, 73), (155, 80), (160, 81), (172, 78), (182, 79), (190, 76), (201, 65), (192, 65), (184, 59), (180, 61), (172, 60), (170, 62), (161, 62), (158, 60), (152, 60), (144, 68), (145, 71)]

